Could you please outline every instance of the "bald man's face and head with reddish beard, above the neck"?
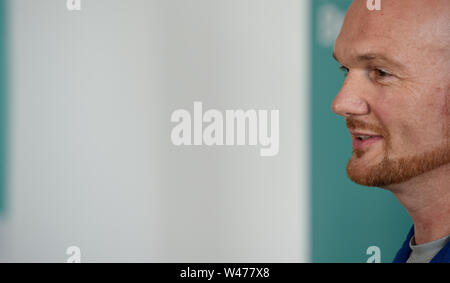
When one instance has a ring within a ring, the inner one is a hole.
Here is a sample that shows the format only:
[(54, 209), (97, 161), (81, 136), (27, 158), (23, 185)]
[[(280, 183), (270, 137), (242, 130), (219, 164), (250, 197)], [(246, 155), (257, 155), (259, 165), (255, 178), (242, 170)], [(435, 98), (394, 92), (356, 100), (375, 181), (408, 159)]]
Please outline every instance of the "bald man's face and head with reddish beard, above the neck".
[(450, 163), (450, 1), (353, 2), (334, 54), (347, 73), (333, 111), (347, 120), (347, 173), (389, 187)]

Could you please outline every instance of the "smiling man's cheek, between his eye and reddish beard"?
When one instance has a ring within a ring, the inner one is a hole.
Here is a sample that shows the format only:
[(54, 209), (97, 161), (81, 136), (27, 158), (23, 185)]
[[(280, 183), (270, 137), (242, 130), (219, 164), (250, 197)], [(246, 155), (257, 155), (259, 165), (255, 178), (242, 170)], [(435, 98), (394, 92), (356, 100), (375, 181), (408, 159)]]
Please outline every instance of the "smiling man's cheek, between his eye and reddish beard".
[(450, 85), (396, 86), (372, 99), (371, 111), (390, 136), (389, 148), (413, 153), (450, 144)]

